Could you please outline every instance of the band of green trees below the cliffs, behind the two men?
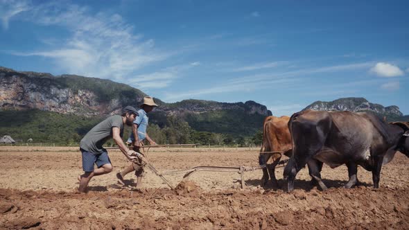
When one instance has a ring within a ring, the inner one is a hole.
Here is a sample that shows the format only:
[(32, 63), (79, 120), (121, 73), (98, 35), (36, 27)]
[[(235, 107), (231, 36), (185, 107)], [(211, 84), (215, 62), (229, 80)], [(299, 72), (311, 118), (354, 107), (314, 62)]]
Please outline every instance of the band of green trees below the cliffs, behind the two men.
[[(33, 139), (33, 143), (75, 146), (92, 127), (105, 118), (105, 116), (58, 114), (38, 109), (0, 110), (0, 137), (10, 135), (17, 143), (26, 143), (28, 139)], [(243, 136), (198, 131), (180, 116), (164, 116), (161, 121), (160, 125), (152, 122), (148, 126), (148, 134), (158, 144), (199, 143), (200, 145), (248, 146), (260, 145), (263, 136), (261, 128), (253, 135)], [(213, 124), (213, 126), (216, 125)], [(130, 127), (126, 127), (123, 132), (124, 141), (128, 139), (130, 132)], [(113, 145), (113, 142), (108, 142), (107, 145)]]

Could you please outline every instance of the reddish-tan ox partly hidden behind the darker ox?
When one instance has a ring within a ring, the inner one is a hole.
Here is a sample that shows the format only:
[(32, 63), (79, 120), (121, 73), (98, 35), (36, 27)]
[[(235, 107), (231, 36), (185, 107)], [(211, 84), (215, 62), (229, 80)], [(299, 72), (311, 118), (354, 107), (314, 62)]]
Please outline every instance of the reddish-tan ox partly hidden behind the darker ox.
[(259, 163), (263, 168), (261, 183), (265, 186), (270, 175), (273, 186), (278, 186), (275, 178), (275, 166), (281, 159), (281, 154), (291, 156), (291, 136), (288, 130), (289, 116), (268, 116), (263, 124), (263, 145), (261, 145)]

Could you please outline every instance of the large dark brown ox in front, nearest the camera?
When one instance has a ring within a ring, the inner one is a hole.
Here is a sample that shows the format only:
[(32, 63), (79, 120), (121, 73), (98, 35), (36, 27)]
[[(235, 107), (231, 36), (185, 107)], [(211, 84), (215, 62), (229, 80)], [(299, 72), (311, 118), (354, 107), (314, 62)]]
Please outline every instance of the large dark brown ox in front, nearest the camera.
[(382, 165), (399, 150), (409, 157), (408, 127), (384, 123), (374, 114), (306, 110), (293, 114), (288, 123), (293, 139), (293, 156), (284, 168), (288, 191), (293, 191), (297, 172), (308, 161), (308, 170), (325, 190), (317, 164), (331, 168), (348, 167), (346, 188), (358, 183), (357, 166), (372, 172), (374, 188), (379, 187)]

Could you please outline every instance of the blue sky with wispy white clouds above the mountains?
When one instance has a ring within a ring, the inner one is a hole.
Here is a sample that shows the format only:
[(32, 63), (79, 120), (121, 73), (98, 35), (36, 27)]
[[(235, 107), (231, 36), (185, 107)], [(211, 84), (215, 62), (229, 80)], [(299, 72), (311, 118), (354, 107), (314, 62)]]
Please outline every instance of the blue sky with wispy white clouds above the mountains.
[(0, 65), (275, 116), (364, 97), (409, 114), (409, 1), (0, 0)]

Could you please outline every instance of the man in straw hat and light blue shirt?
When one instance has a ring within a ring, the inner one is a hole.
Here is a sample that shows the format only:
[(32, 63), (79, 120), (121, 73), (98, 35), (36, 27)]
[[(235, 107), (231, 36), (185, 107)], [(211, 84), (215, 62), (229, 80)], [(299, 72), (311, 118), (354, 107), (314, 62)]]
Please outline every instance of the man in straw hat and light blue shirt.
[[(127, 143), (133, 143), (134, 151), (140, 152), (139, 148), (141, 148), (141, 142), (143, 140), (149, 141), (150, 145), (156, 145), (155, 141), (150, 139), (148, 133), (146, 132), (146, 128), (148, 127), (148, 114), (151, 112), (157, 105), (153, 101), (153, 98), (150, 96), (146, 96), (143, 98), (143, 103), (141, 105), (141, 109), (138, 110), (138, 116), (134, 120), (132, 125), (132, 133), (126, 141)], [(141, 159), (136, 159), (130, 166), (126, 167), (122, 172), (116, 173), (116, 177), (119, 179), (121, 184), (125, 184), (123, 182), (123, 177), (128, 173), (135, 171), (135, 175), (137, 176), (137, 187), (141, 186), (142, 177), (143, 177), (143, 167), (145, 166), (145, 162)]]

